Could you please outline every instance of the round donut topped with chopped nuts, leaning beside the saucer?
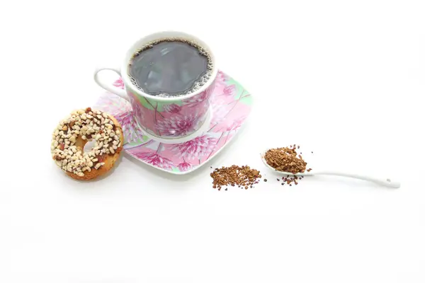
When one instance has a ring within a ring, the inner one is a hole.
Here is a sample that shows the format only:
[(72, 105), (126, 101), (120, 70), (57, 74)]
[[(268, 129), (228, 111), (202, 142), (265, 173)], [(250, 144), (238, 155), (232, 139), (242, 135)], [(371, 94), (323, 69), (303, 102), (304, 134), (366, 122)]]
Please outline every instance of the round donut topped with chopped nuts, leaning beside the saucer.
[[(84, 152), (92, 140), (94, 147)], [(112, 115), (86, 108), (72, 112), (57, 125), (50, 150), (62, 171), (77, 180), (91, 180), (111, 170), (123, 140), (123, 129)]]

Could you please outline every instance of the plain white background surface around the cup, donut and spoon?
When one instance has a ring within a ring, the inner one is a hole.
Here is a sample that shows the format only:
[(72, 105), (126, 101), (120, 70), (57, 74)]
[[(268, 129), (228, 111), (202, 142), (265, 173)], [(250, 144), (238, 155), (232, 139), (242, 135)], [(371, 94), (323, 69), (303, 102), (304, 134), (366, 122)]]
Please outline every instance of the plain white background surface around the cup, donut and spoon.
[[(1, 1), (0, 282), (425, 282), (424, 1)], [(279, 3), (279, 4), (277, 4)], [(254, 97), (237, 139), (190, 175), (124, 155), (80, 183), (52, 129), (91, 105), (97, 64), (157, 30), (198, 35)], [(280, 186), (259, 152), (398, 179)], [(210, 166), (269, 179), (212, 189)]]

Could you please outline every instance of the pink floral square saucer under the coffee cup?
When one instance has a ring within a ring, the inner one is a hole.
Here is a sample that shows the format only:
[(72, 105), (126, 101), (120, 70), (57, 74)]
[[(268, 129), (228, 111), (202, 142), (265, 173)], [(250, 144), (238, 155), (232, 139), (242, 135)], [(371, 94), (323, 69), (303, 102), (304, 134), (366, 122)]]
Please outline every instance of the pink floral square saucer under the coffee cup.
[[(113, 86), (124, 88), (119, 78)], [(209, 118), (186, 139), (164, 141), (137, 124), (130, 103), (113, 93), (103, 93), (93, 108), (113, 115), (123, 127), (124, 151), (149, 166), (182, 175), (195, 171), (216, 156), (239, 132), (251, 112), (252, 96), (232, 77), (218, 71), (211, 96)]]

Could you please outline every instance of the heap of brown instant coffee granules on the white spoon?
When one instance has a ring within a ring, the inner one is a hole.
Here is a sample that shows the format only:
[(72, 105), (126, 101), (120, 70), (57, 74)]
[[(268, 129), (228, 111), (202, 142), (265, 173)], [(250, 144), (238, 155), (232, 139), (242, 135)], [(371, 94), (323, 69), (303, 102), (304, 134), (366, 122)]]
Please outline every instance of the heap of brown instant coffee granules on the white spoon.
[(277, 149), (269, 149), (264, 154), (264, 158), (269, 166), (276, 171), (290, 172), (293, 174), (304, 173), (307, 162), (302, 159), (301, 154), (297, 154), (296, 149), (299, 146), (295, 144), (289, 147), (280, 147)]

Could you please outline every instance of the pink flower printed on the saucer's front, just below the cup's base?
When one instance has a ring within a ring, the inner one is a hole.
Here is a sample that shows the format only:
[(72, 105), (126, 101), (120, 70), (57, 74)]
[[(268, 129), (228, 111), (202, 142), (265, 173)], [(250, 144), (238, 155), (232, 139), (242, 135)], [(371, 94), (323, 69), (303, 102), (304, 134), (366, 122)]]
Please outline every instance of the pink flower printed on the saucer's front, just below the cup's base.
[(215, 144), (217, 144), (215, 137), (209, 137), (207, 134), (204, 134), (201, 137), (196, 137), (181, 144), (173, 144), (171, 145), (171, 150), (181, 154), (183, 158), (193, 159), (210, 154)]

